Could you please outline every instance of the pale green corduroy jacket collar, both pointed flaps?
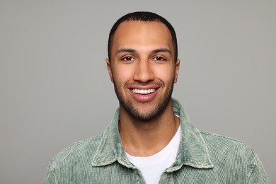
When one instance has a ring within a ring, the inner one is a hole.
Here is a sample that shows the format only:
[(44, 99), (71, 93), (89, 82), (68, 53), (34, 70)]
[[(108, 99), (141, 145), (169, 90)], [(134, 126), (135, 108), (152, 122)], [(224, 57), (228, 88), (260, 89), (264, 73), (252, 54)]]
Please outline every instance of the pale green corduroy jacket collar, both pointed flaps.
[[(194, 168), (212, 168), (213, 164), (209, 156), (209, 151), (201, 133), (195, 128), (185, 114), (178, 100), (173, 99), (173, 113), (180, 117), (181, 140), (176, 157), (176, 162), (168, 168), (168, 172), (176, 171), (183, 165)], [(125, 149), (120, 139), (118, 122), (120, 111), (116, 110), (111, 124), (106, 127), (103, 137), (100, 140), (96, 154), (94, 154), (92, 166), (106, 166), (118, 161), (123, 166), (134, 168), (132, 163), (127, 159)]]

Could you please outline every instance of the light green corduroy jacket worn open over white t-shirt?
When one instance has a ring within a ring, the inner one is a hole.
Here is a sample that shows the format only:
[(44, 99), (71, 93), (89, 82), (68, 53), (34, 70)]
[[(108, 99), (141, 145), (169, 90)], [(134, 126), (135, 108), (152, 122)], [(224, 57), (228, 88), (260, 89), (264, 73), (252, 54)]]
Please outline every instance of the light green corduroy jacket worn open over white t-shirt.
[[(159, 183), (270, 183), (249, 146), (197, 130), (175, 99), (173, 112), (180, 117), (180, 147), (176, 162), (163, 172)], [(44, 183), (145, 183), (125, 155), (119, 117), (117, 110), (103, 134), (71, 144), (54, 156)]]

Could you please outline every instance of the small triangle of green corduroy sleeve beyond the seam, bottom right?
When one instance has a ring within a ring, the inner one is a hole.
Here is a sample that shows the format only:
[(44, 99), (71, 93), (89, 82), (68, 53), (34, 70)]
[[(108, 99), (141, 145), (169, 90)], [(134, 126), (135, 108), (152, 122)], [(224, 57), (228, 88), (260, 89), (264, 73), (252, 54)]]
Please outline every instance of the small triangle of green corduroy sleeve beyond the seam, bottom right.
[(263, 163), (258, 158), (254, 168), (251, 171), (251, 174), (248, 177), (248, 184), (258, 183), (258, 184), (270, 184), (267, 173), (263, 167)]

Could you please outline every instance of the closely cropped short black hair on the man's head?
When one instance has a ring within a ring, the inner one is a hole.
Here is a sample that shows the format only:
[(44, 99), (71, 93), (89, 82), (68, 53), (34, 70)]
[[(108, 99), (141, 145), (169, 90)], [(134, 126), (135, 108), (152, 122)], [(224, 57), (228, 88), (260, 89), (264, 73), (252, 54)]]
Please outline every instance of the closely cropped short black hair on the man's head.
[(174, 59), (175, 61), (178, 59), (178, 43), (176, 39), (176, 31), (173, 28), (173, 25), (169, 23), (165, 18), (162, 16), (159, 16), (156, 13), (152, 13), (149, 11), (136, 11), (133, 13), (128, 13), (125, 16), (122, 16), (119, 18), (113, 27), (110, 30), (109, 37), (108, 37), (108, 58), (111, 59), (111, 46), (113, 44), (113, 36), (119, 27), (120, 23), (125, 22), (125, 21), (142, 21), (142, 22), (160, 22), (166, 25), (168, 30), (171, 33), (171, 38), (173, 40), (173, 47), (174, 47)]

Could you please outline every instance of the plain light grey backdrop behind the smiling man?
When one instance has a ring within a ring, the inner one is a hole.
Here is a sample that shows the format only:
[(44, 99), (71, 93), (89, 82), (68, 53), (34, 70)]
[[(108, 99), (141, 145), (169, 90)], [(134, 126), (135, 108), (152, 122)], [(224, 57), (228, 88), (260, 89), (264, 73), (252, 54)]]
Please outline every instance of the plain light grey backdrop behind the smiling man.
[(173, 96), (202, 130), (245, 142), (275, 178), (276, 1), (0, 1), (0, 183), (42, 183), (65, 146), (118, 106), (108, 33), (154, 11), (178, 35)]

